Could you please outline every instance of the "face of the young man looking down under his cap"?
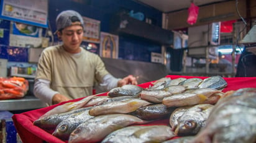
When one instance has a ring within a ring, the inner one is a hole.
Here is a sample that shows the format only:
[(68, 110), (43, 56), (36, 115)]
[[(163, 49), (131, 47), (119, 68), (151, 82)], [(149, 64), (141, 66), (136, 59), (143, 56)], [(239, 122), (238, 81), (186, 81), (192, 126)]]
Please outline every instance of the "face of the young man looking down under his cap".
[(64, 49), (68, 53), (79, 53), (80, 44), (83, 39), (83, 27), (81, 25), (71, 25), (58, 32), (58, 37), (63, 41)]

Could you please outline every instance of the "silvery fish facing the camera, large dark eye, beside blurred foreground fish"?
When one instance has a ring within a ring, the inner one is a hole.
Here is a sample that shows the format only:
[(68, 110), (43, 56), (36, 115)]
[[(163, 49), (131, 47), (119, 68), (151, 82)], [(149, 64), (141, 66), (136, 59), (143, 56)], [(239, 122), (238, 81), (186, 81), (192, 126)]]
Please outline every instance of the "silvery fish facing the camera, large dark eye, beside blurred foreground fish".
[(170, 126), (178, 136), (192, 136), (206, 124), (214, 105), (199, 104), (177, 108), (170, 116)]

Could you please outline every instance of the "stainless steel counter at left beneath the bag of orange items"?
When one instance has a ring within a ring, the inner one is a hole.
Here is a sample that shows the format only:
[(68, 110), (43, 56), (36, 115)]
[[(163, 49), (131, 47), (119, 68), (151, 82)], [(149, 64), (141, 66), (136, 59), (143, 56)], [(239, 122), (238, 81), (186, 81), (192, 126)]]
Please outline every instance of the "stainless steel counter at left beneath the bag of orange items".
[(17, 111), (17, 110), (34, 110), (47, 106), (33, 95), (25, 95), (21, 99), (0, 100), (0, 110)]

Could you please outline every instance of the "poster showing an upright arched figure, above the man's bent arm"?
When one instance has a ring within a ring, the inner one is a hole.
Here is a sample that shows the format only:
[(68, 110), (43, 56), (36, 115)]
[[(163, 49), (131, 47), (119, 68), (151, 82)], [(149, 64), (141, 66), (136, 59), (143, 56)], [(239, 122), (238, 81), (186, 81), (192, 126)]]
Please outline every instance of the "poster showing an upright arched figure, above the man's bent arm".
[(118, 58), (119, 37), (110, 33), (101, 32), (99, 55), (103, 58)]

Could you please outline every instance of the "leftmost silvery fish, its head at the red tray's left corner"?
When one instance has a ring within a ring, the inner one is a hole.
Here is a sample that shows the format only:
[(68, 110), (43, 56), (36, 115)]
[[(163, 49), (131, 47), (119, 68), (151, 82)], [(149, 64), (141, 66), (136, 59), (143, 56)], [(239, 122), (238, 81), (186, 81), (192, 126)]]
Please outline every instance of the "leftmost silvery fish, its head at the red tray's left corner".
[(41, 129), (55, 129), (57, 125), (64, 119), (68, 118), (73, 114), (81, 113), (85, 110), (88, 110), (88, 108), (79, 108), (65, 113), (45, 116), (43, 118), (36, 119), (33, 124)]

